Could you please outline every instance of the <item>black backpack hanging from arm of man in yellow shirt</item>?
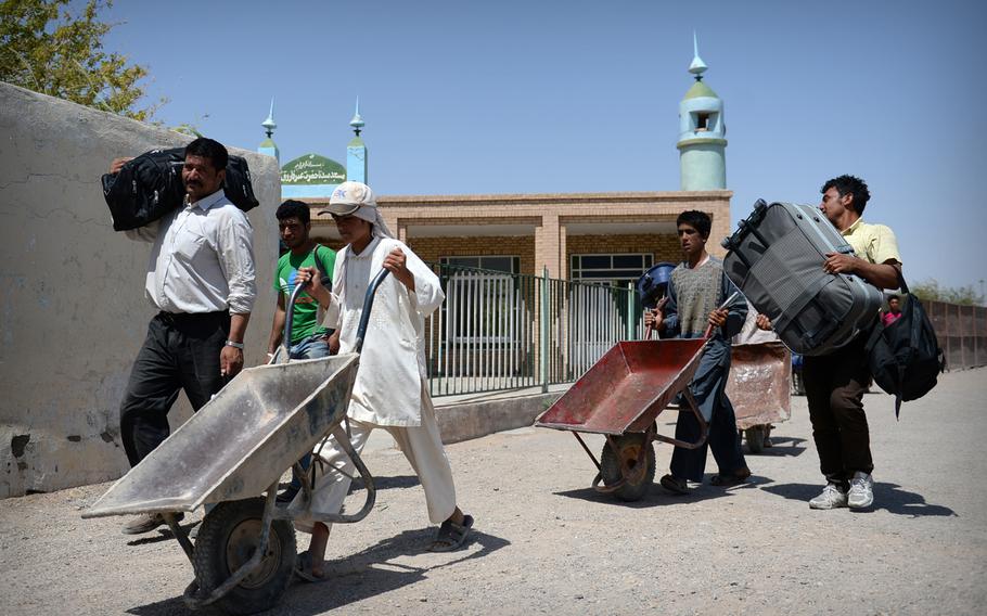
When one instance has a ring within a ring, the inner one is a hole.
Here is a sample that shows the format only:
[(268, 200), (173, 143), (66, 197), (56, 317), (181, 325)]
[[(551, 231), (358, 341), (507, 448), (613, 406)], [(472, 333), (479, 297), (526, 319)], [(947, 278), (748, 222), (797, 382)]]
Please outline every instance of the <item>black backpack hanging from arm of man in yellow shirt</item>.
[(908, 293), (900, 270), (898, 281), (905, 292), (901, 317), (890, 325), (884, 325), (879, 319), (866, 346), (874, 382), (895, 396), (896, 418), (901, 402), (916, 400), (927, 394), (936, 386), (939, 373), (946, 368), (936, 332), (922, 303)]

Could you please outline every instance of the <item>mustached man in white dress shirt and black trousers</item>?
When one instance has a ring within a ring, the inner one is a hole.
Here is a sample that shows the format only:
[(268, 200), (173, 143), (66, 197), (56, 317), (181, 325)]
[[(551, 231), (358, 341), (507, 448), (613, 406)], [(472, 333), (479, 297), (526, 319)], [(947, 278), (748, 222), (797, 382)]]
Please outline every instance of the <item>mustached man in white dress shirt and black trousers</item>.
[[(184, 205), (126, 232), (153, 243), (144, 295), (158, 310), (120, 403), (120, 436), (131, 467), (170, 434), (168, 411), (180, 389), (198, 410), (243, 368), (243, 336), (257, 295), (253, 229), (223, 194), (227, 159), (217, 141), (189, 143)], [(115, 159), (110, 172), (126, 161)], [(124, 532), (148, 532), (164, 523), (161, 514), (144, 514)]]

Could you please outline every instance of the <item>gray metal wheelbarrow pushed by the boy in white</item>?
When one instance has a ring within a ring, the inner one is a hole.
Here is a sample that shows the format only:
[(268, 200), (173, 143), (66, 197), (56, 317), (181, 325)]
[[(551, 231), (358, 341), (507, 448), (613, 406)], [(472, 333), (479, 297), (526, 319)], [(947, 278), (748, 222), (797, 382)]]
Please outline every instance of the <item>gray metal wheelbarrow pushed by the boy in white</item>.
[[(381, 270), (367, 290), (355, 352), (287, 363), (292, 308), (303, 291), (297, 286), (286, 310), (283, 363), (243, 370), (82, 517), (161, 513), (195, 573), (183, 596), (189, 607), (216, 604), (231, 614), (273, 607), (297, 557), (292, 521), (354, 523), (373, 508), (373, 477), (349, 440), (346, 410), (374, 293), (387, 273)], [(313, 511), (317, 464), (304, 470), (297, 462), (329, 435), (364, 485), (366, 501), (352, 514)], [(278, 508), (279, 480), (292, 467), (303, 478), (302, 504)], [(193, 547), (177, 513), (204, 504), (216, 506), (206, 512)]]

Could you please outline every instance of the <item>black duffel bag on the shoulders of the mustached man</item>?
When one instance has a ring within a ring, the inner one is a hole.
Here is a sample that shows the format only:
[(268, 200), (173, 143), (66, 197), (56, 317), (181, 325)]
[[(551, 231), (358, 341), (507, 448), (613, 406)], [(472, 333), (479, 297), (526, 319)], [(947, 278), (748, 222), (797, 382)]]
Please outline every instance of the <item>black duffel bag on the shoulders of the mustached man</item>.
[[(113, 230), (143, 227), (180, 207), (185, 196), (181, 181), (184, 162), (184, 147), (152, 150), (128, 161), (119, 172), (103, 175), (103, 197), (113, 216)], [(260, 205), (251, 184), (251, 168), (241, 156), (229, 157), (222, 190), (243, 211)]]

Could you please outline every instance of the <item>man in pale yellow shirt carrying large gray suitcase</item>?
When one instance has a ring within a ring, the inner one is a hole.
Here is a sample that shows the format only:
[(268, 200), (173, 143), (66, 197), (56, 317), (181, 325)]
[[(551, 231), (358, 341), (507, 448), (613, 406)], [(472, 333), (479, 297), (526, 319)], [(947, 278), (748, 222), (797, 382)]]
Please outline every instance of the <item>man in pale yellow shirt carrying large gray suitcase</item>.
[[(879, 288), (896, 288), (901, 267), (898, 243), (889, 228), (869, 224), (861, 218), (870, 198), (863, 180), (839, 176), (823, 184), (821, 192), (819, 208), (855, 252), (826, 254), (823, 270), (853, 273)], [(764, 316), (758, 317), (758, 324), (770, 326)], [(826, 478), (822, 493), (809, 501), (812, 509), (862, 509), (874, 502), (874, 463), (863, 411), (863, 393), (870, 382), (867, 334), (862, 331), (831, 354), (804, 358), (812, 437)]]

